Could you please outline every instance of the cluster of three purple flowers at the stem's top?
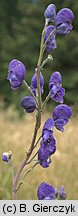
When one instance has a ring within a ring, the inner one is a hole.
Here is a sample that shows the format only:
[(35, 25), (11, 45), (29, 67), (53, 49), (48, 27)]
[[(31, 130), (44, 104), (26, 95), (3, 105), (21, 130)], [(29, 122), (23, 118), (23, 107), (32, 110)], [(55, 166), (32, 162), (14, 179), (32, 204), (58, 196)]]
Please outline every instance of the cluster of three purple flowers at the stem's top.
[[(44, 12), (46, 23), (49, 22), (53, 25), (48, 25), (45, 28), (44, 41), (46, 42), (46, 50), (48, 52), (53, 51), (57, 45), (55, 37), (57, 34), (66, 35), (72, 30), (72, 21), (74, 19), (74, 14), (69, 8), (63, 8), (58, 13), (56, 13), (56, 7), (54, 4), (50, 4)], [(51, 37), (49, 35), (52, 34)], [(49, 38), (47, 40), (47, 38)]]

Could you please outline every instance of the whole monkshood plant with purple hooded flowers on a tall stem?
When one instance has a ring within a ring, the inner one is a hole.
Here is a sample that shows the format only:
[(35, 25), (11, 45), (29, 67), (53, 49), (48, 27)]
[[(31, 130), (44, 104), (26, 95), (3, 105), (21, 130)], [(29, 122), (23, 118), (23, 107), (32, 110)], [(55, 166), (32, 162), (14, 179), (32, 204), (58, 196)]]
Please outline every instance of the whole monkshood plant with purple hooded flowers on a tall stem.
[[(63, 8), (56, 13), (56, 6), (50, 4), (44, 12), (44, 17), (45, 25), (42, 31), (38, 63), (30, 86), (25, 80), (26, 68), (24, 64), (17, 59), (13, 59), (9, 63), (8, 80), (10, 81), (11, 89), (17, 90), (24, 84), (29, 91), (29, 95), (22, 98), (20, 106), (26, 113), (32, 113), (34, 111), (36, 113), (32, 142), (16, 174), (14, 173), (13, 168), (12, 152), (9, 151), (2, 154), (2, 160), (8, 162), (12, 169), (13, 199), (17, 199), (17, 191), (23, 184), (24, 178), (32, 169), (37, 165), (40, 165), (45, 169), (49, 167), (52, 161), (52, 155), (56, 152), (54, 127), (56, 127), (57, 130), (64, 132), (64, 126), (69, 122), (72, 115), (71, 107), (63, 103), (65, 89), (62, 87), (62, 77), (58, 71), (52, 73), (48, 86), (49, 93), (45, 100), (42, 101), (42, 94), (44, 93), (44, 77), (42, 72), (47, 62), (53, 61), (50, 53), (57, 48), (56, 37), (58, 37), (59, 34), (67, 35), (72, 30), (74, 14), (69, 8)], [(46, 59), (44, 59), (44, 54), (47, 55)], [(59, 104), (54, 108), (52, 116), (44, 123), (42, 134), (37, 139), (38, 130), (41, 126), (42, 113), (49, 99), (54, 100)], [(34, 153), (34, 149), (36, 149), (38, 145), (39, 148), (37, 148), (36, 153)], [(33, 165), (31, 165), (31, 163), (33, 163)], [(29, 164), (30, 168), (26, 169), (25, 174), (20, 179), (20, 174)], [(64, 186), (61, 186), (60, 189), (56, 189), (56, 187), (49, 185), (46, 182), (42, 182), (38, 186), (37, 195), (39, 200), (66, 199)]]

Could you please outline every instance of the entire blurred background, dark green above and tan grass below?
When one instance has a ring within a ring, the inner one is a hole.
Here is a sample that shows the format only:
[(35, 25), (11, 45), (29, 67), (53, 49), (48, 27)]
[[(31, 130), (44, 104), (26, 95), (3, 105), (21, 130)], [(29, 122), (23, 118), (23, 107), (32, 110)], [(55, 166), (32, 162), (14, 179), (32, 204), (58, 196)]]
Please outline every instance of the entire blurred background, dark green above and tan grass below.
[[(53, 71), (60, 71), (66, 90), (64, 102), (73, 107), (73, 117), (61, 133), (55, 129), (57, 151), (48, 169), (35, 168), (18, 192), (18, 199), (37, 199), (37, 187), (42, 181), (60, 187), (65, 185), (68, 199), (78, 199), (78, 0), (2, 0), (0, 1), (0, 155), (12, 150), (15, 171), (31, 142), (34, 115), (23, 114), (19, 102), (28, 92), (22, 87), (13, 92), (7, 81), (8, 63), (17, 58), (27, 69), (26, 81), (31, 82), (37, 64), (40, 37), (44, 26), (44, 10), (54, 3), (57, 11), (69, 7), (75, 15), (73, 31), (58, 36), (54, 61), (44, 68), (43, 99)], [(42, 125), (52, 113), (52, 101), (43, 114)], [(53, 103), (55, 106), (56, 103)], [(13, 109), (12, 109), (13, 107)], [(16, 111), (14, 111), (16, 109)], [(41, 131), (41, 129), (40, 129)], [(39, 133), (40, 133), (39, 131)], [(25, 149), (25, 151), (24, 151)], [(11, 199), (11, 173), (0, 157), (0, 199)]]

